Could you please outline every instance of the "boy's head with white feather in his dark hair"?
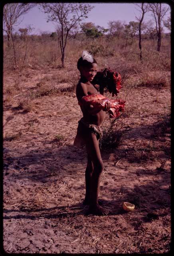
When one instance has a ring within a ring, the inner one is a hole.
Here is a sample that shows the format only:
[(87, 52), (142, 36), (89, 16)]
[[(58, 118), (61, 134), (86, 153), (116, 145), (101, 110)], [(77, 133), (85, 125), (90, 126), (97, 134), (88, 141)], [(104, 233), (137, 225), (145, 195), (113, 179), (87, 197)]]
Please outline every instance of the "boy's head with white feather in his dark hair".
[(77, 68), (81, 76), (92, 81), (97, 73), (97, 61), (87, 51), (82, 52), (82, 57), (77, 61)]

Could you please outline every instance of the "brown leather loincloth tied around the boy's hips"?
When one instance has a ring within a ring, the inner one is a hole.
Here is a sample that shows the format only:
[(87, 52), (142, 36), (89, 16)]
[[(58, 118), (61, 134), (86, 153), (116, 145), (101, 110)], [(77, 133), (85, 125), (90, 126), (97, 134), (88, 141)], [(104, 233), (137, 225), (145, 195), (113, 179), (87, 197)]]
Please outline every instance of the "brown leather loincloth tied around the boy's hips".
[(85, 122), (83, 118), (81, 118), (78, 123), (79, 124), (77, 127), (77, 134), (75, 136), (75, 140), (73, 144), (74, 146), (78, 148), (84, 146), (86, 144), (85, 134), (87, 134), (88, 132), (95, 134), (97, 140), (101, 139), (103, 133), (99, 126), (95, 124), (89, 124)]

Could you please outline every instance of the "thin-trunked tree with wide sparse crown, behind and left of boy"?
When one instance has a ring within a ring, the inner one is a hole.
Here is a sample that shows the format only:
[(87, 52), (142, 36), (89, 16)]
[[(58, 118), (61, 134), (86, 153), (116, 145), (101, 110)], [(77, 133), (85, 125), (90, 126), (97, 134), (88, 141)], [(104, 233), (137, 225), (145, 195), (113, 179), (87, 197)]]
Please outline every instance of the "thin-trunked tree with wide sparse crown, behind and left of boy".
[(59, 40), (61, 49), (61, 66), (64, 68), (65, 48), (69, 32), (80, 24), (93, 6), (89, 4), (75, 3), (43, 3), (40, 4), (42, 11), (48, 15), (47, 22), (56, 22), (61, 27), (61, 40)]

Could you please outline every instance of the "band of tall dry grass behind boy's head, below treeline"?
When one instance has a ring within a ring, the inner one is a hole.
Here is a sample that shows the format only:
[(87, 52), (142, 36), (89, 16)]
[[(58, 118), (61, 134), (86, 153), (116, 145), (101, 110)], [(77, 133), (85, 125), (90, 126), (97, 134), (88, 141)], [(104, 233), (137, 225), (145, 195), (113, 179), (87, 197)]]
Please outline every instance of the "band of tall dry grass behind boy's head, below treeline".
[[(46, 67), (57, 68), (61, 65), (61, 52), (57, 41), (33, 41), (29, 40), (28, 52), (25, 62), (25, 42), (16, 40), (16, 59), (19, 68), (30, 67), (40, 69)], [(76, 62), (81, 55), (82, 50), (91, 51), (95, 58), (99, 60), (99, 66), (105, 68), (105, 65), (111, 68), (117, 68), (120, 64), (130, 66), (133, 71), (143, 72), (143, 70), (170, 70), (170, 40), (163, 39), (161, 52), (156, 52), (156, 45), (150, 40), (142, 42), (143, 62), (139, 60), (138, 40), (134, 39), (132, 45), (124, 47), (124, 39), (97, 38), (93, 40), (69, 40), (66, 46), (65, 66), (70, 70), (76, 69)], [(45, 51), (45, 49), (47, 49)], [(73, 50), (72, 50), (73, 49)], [(102, 60), (103, 59), (103, 60)], [(113, 61), (112, 61), (113, 60)], [(133, 60), (133, 61), (132, 61)], [(4, 68), (14, 70), (14, 58), (12, 47), (7, 50), (4, 43)], [(127, 69), (128, 70), (128, 69)]]

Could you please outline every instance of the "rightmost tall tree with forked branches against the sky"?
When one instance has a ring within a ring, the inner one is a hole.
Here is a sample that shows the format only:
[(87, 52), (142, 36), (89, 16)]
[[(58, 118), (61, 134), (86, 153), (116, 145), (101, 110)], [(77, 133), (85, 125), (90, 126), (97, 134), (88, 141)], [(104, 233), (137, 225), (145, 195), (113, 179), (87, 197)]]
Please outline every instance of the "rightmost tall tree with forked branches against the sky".
[(161, 3), (149, 4), (152, 17), (156, 24), (157, 33), (157, 51), (160, 52), (161, 48), (161, 32), (162, 32), (162, 20), (165, 14), (168, 12), (170, 6), (164, 6)]

